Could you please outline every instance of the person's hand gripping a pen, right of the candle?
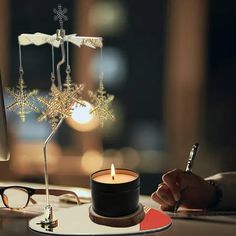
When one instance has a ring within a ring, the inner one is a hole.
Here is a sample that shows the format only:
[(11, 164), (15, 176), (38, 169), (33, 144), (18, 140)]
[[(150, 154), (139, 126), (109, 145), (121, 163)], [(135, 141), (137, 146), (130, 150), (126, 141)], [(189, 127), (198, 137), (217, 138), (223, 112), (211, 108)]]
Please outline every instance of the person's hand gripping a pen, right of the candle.
[(173, 210), (180, 199), (180, 206), (190, 209), (205, 209), (214, 201), (214, 187), (191, 172), (174, 169), (164, 174), (162, 181), (151, 196), (162, 210)]

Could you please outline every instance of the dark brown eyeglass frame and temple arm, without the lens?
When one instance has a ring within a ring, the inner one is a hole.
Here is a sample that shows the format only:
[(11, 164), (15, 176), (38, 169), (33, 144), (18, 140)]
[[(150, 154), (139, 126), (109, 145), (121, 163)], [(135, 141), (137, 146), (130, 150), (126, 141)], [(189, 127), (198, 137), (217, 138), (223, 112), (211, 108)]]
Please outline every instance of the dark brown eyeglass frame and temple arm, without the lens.
[[(5, 202), (5, 199), (4, 199), (4, 191), (6, 189), (10, 189), (10, 188), (19, 188), (19, 189), (24, 189), (26, 190), (26, 192), (28, 193), (28, 199), (27, 199), (27, 202), (25, 204), (24, 207), (20, 207), (20, 208), (12, 208), (12, 207), (9, 207), (6, 202)], [(64, 194), (72, 194), (75, 196), (76, 198), (76, 201), (77, 201), (77, 204), (81, 204), (81, 201), (79, 199), (79, 196), (74, 192), (74, 191), (71, 191), (71, 190), (65, 190), (65, 189), (49, 189), (48, 190), (49, 194), (50, 195), (53, 195), (53, 196), (62, 196)], [(0, 195), (2, 197), (2, 202), (4, 204), (4, 206), (6, 208), (9, 208), (9, 209), (24, 209), (28, 206), (29, 202), (31, 201), (33, 204), (36, 203), (36, 201), (32, 198), (32, 196), (34, 194), (46, 194), (46, 189), (36, 189), (36, 188), (31, 188), (31, 187), (25, 187), (25, 186), (19, 186), (19, 185), (12, 185), (12, 186), (5, 186), (5, 187), (0, 187)]]

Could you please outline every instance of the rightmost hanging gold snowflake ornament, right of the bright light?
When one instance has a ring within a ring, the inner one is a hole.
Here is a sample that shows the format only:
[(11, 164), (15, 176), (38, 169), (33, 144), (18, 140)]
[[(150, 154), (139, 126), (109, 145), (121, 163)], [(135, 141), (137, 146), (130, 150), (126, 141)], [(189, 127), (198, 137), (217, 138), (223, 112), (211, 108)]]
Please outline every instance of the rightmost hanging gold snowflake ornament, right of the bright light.
[(110, 109), (111, 102), (113, 101), (114, 96), (108, 94), (105, 91), (102, 75), (100, 76), (98, 90), (96, 92), (89, 90), (88, 95), (90, 97), (90, 102), (93, 105), (93, 109), (91, 110), (91, 113), (95, 114), (95, 116), (98, 117), (101, 127), (103, 127), (104, 121), (115, 120), (113, 111)]

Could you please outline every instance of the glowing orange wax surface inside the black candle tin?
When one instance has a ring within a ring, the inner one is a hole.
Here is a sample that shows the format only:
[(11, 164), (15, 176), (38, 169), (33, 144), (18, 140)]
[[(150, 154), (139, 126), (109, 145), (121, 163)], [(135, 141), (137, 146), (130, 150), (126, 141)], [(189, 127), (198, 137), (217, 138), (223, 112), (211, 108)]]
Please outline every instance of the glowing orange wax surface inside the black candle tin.
[(127, 183), (130, 181), (135, 180), (137, 177), (133, 175), (128, 174), (116, 174), (114, 180), (112, 179), (110, 174), (103, 174), (94, 177), (94, 180), (100, 183), (106, 183), (106, 184), (121, 184), (121, 183)]

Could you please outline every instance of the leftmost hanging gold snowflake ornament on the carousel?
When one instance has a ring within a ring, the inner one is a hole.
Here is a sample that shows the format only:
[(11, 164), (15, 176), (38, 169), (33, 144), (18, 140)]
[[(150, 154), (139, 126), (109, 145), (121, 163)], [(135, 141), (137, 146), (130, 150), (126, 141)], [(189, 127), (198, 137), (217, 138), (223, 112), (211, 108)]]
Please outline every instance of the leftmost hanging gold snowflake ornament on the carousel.
[(25, 122), (26, 115), (30, 112), (39, 112), (39, 109), (35, 106), (35, 96), (38, 91), (32, 90), (27, 92), (22, 75), (20, 75), (16, 89), (7, 88), (7, 92), (14, 99), (14, 102), (7, 106), (7, 110), (15, 111), (22, 122)]

